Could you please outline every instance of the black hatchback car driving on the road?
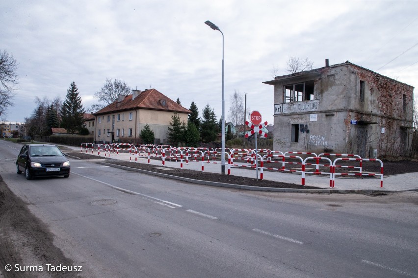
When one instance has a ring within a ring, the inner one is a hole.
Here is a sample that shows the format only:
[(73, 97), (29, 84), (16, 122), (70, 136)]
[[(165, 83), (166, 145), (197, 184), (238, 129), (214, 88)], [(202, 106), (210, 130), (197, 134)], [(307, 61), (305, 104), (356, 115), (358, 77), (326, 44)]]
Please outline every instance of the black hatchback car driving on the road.
[(70, 162), (55, 145), (24, 145), (16, 161), (16, 172), (26, 179), (45, 176), (70, 176)]

